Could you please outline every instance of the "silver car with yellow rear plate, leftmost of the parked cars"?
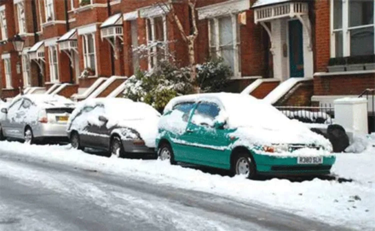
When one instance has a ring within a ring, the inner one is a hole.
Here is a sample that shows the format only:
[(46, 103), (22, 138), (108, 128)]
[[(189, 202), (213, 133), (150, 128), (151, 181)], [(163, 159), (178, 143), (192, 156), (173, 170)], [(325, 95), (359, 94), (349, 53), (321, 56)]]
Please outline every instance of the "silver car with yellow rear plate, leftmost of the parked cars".
[(66, 124), (74, 102), (59, 95), (22, 95), (1, 108), (0, 139), (67, 140)]

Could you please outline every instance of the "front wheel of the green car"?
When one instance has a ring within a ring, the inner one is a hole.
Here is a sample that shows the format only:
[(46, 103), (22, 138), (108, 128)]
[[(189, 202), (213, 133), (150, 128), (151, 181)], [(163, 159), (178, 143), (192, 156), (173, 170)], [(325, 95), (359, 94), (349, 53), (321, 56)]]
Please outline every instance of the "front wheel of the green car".
[(233, 175), (242, 175), (247, 179), (254, 179), (256, 176), (256, 166), (248, 153), (240, 152), (233, 158), (231, 164)]

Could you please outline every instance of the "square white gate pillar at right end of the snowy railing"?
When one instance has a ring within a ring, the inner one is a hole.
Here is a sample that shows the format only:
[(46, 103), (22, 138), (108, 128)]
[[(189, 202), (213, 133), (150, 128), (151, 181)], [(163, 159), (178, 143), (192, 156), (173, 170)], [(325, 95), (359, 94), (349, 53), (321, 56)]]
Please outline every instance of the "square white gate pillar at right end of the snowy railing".
[(348, 132), (368, 134), (367, 99), (341, 98), (334, 103), (334, 123)]

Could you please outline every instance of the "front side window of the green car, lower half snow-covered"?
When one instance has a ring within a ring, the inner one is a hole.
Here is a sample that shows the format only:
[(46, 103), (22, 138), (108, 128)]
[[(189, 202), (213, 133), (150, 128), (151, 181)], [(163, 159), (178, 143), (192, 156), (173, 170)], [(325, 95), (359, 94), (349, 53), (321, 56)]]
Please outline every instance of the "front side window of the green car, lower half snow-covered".
[(220, 108), (217, 104), (201, 102), (194, 110), (191, 123), (196, 125), (213, 126), (213, 121), (219, 112)]

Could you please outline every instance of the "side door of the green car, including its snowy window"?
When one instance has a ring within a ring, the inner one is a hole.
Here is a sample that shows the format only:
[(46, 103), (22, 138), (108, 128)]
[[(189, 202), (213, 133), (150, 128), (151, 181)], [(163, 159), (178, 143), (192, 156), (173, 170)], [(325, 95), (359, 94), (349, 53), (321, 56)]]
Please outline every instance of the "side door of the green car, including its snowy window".
[(199, 102), (187, 124), (183, 140), (191, 146), (190, 159), (193, 163), (212, 167), (227, 164), (230, 143), (227, 130), (215, 128), (215, 118), (220, 107), (212, 102)]

